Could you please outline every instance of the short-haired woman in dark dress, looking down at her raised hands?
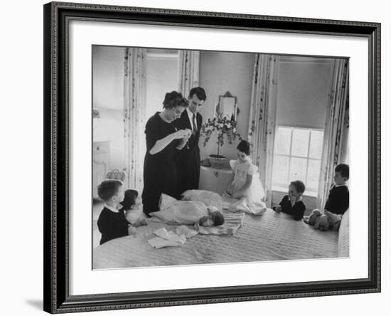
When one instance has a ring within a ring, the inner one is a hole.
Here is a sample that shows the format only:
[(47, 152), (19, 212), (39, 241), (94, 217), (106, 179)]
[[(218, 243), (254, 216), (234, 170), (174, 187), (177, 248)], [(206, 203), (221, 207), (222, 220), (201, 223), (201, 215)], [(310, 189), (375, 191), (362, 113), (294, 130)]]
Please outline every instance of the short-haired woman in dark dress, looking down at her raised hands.
[(147, 216), (159, 211), (162, 193), (178, 199), (176, 149), (182, 149), (191, 136), (191, 130), (176, 130), (172, 124), (186, 109), (188, 100), (173, 91), (166, 93), (163, 105), (164, 110), (150, 117), (145, 126), (146, 154), (141, 196)]

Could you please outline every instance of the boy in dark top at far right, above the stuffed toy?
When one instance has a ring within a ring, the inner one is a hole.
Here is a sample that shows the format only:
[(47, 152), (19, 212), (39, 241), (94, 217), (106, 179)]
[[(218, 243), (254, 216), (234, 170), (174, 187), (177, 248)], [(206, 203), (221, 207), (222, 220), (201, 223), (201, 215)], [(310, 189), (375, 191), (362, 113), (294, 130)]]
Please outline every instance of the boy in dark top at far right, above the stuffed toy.
[(334, 172), (335, 183), (328, 193), (324, 209), (333, 214), (343, 215), (349, 208), (349, 189), (346, 185), (349, 179), (349, 166), (348, 164), (338, 164)]

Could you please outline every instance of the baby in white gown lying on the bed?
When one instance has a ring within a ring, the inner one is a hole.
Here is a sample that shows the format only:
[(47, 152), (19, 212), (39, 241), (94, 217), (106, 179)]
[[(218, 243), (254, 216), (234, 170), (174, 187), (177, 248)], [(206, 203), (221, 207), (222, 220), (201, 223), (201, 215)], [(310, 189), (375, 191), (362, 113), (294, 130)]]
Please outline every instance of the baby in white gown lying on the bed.
[(199, 226), (220, 226), (224, 223), (223, 214), (215, 206), (205, 206), (201, 201), (178, 201), (161, 194), (159, 209), (160, 211), (149, 215), (159, 218), (164, 223)]

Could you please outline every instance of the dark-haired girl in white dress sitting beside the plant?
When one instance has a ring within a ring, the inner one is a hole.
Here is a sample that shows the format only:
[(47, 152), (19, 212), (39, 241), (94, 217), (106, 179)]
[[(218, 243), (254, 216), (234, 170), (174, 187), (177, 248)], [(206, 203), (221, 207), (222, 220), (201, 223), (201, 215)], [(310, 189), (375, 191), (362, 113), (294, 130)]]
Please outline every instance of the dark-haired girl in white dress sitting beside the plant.
[(264, 189), (259, 179), (258, 167), (250, 161), (250, 143), (242, 140), (236, 149), (237, 160), (230, 161), (233, 173), (226, 192), (235, 199), (246, 197), (250, 202), (261, 201)]

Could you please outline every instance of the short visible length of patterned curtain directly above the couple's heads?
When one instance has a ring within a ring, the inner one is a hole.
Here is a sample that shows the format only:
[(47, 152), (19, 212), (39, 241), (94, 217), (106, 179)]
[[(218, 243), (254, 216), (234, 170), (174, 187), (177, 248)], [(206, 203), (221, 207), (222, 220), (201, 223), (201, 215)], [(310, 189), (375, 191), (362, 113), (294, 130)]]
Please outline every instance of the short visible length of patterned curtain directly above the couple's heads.
[(178, 92), (188, 98), (191, 88), (198, 87), (200, 73), (200, 52), (179, 51)]

